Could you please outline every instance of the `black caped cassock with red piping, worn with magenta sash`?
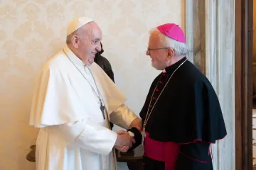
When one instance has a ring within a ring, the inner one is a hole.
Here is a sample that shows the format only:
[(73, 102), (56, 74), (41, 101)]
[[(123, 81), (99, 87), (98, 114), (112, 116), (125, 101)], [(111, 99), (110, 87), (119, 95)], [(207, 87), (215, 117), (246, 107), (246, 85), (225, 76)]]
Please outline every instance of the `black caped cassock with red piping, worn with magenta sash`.
[[(144, 123), (148, 109), (150, 112), (153, 108), (146, 123), (149, 137), (179, 144), (176, 170), (210, 170), (213, 169), (210, 144), (227, 135), (223, 114), (208, 79), (185, 60), (186, 57), (167, 67), (166, 73), (154, 79), (140, 116)], [(183, 65), (177, 69), (182, 62)], [(166, 84), (175, 69), (176, 72)], [(161, 170), (164, 164), (144, 157), (145, 170)]]

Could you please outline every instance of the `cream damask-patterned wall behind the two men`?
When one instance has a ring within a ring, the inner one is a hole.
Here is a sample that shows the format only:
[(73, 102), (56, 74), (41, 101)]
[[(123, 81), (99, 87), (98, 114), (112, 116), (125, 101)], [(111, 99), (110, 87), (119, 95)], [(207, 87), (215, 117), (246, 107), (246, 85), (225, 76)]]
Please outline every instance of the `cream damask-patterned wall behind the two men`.
[(37, 130), (28, 125), (32, 89), (41, 66), (65, 42), (76, 16), (102, 28), (103, 55), (114, 69), (127, 104), (139, 114), (158, 74), (146, 57), (148, 30), (161, 23), (185, 28), (185, 0), (2, 0), (0, 1), (0, 169), (35, 169), (26, 161)]

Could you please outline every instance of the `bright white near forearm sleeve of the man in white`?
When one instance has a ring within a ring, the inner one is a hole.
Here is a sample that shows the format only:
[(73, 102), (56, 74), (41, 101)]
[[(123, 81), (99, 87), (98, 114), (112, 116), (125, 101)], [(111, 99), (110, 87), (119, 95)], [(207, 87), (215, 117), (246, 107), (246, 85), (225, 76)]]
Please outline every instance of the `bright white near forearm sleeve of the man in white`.
[(98, 154), (110, 154), (117, 140), (116, 132), (90, 120), (59, 125), (59, 128), (72, 147), (75, 145)]

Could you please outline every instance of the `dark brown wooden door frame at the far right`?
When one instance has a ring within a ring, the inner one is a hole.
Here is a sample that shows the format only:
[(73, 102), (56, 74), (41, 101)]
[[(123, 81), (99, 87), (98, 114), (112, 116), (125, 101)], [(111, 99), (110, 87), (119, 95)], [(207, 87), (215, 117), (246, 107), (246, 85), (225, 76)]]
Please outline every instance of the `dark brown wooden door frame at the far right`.
[(252, 169), (253, 0), (235, 0), (235, 169)]

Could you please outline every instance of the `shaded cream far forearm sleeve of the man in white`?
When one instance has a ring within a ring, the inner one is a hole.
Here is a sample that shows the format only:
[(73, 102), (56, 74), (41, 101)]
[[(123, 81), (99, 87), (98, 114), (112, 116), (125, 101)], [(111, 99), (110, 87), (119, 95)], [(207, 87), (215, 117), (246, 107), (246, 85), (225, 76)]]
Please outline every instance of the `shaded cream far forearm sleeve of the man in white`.
[(138, 118), (126, 105), (122, 104), (110, 114), (110, 121), (121, 128), (128, 129), (134, 119)]

